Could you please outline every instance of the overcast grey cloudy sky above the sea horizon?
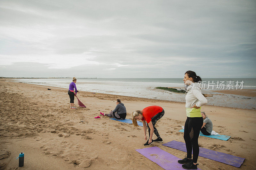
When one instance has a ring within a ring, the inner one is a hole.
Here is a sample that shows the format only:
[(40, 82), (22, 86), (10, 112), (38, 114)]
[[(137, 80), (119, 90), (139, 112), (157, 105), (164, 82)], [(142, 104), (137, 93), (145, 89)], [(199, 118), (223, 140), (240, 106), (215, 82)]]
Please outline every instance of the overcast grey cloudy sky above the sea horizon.
[(256, 1), (1, 0), (0, 77), (256, 78)]

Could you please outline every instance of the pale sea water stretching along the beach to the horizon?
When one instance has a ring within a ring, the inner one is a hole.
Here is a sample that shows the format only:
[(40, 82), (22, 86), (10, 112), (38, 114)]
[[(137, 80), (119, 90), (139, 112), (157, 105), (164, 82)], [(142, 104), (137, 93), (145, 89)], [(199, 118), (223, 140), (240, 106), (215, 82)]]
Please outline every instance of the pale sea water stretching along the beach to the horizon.
[[(256, 89), (256, 78), (203, 78), (202, 93), (221, 94), (207, 97), (207, 105), (255, 109), (256, 97), (214, 92), (229, 89)], [(66, 88), (72, 78), (14, 78), (11, 81)], [(186, 94), (156, 89), (175, 87), (185, 90), (183, 78), (77, 78), (77, 90), (148, 99), (185, 102)], [(79, 95), (79, 93), (78, 93)], [(125, 100), (125, 99), (123, 99)]]

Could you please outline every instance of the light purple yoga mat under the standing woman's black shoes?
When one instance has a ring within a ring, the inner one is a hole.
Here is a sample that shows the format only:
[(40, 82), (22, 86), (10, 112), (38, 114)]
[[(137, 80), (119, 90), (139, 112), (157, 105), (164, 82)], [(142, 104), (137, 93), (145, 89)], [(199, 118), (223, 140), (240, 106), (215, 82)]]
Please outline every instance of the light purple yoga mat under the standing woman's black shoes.
[(157, 165), (161, 166), (164, 169), (184, 170), (184, 168), (182, 168), (182, 164), (179, 164), (177, 162), (178, 160), (180, 160), (180, 158), (177, 158), (176, 156), (168, 152), (165, 152), (164, 150), (158, 148), (157, 146), (136, 149), (135, 151), (139, 152), (141, 155), (155, 162)]

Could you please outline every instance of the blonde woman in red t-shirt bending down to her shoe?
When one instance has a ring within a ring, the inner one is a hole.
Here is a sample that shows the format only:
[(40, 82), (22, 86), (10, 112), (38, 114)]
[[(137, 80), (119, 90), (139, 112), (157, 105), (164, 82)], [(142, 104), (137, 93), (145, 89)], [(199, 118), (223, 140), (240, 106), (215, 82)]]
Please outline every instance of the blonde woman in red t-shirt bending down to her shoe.
[[(148, 127), (149, 139), (146, 142), (146, 144), (144, 144), (144, 146), (148, 146), (153, 142), (163, 143), (163, 139), (160, 137), (157, 129), (155, 128), (156, 121), (158, 121), (163, 116), (164, 116), (164, 109), (160, 106), (149, 106), (144, 108), (143, 110), (136, 110), (132, 113), (133, 126), (139, 127), (137, 123), (137, 119), (142, 120), (145, 140), (147, 140), (147, 127)], [(156, 140), (152, 140), (153, 132), (157, 137)]]

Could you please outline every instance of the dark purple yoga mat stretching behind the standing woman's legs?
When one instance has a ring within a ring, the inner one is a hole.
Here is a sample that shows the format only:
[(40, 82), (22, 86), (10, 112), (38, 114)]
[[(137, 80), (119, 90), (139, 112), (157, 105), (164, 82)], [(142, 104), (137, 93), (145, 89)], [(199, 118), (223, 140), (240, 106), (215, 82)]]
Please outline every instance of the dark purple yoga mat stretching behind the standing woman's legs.
[[(183, 152), (187, 152), (186, 149), (186, 144), (183, 142), (178, 142), (178, 141), (171, 141), (166, 144), (163, 144), (164, 146), (168, 146), (173, 149), (178, 149)], [(210, 149), (205, 149), (199, 147), (199, 156), (212, 159), (218, 162), (222, 162), (224, 164), (232, 165), (235, 167), (240, 167), (242, 163), (244, 162), (244, 158), (240, 158), (237, 156), (229, 155), (227, 153), (222, 153), (222, 152), (217, 152), (217, 151), (212, 151)]]

